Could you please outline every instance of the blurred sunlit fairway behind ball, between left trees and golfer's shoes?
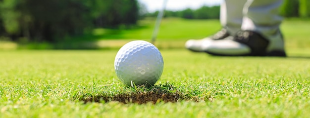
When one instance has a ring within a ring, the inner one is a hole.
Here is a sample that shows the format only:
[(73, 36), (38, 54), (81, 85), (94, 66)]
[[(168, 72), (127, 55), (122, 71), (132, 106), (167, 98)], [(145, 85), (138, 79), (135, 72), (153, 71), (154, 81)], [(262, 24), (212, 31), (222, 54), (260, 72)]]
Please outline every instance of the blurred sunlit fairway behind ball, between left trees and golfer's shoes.
[[(140, 20), (129, 29), (94, 29), (83, 36), (71, 37), (54, 45), (56, 49), (115, 49), (130, 40), (151, 40), (155, 25), (154, 18)], [(156, 45), (158, 48), (183, 48), (187, 39), (201, 39), (220, 29), (219, 20), (186, 20), (167, 18), (161, 22)], [(29, 45), (29, 44), (28, 44)], [(32, 44), (25, 48), (52, 47)]]

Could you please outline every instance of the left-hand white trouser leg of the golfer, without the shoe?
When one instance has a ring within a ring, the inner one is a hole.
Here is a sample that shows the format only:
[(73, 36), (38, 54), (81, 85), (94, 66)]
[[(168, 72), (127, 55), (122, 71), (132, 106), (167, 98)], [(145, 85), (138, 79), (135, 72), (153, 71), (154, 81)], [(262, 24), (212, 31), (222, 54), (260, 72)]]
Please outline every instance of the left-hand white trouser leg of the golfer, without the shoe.
[(231, 35), (241, 30), (243, 7), (247, 0), (224, 0), (220, 7), (220, 22)]

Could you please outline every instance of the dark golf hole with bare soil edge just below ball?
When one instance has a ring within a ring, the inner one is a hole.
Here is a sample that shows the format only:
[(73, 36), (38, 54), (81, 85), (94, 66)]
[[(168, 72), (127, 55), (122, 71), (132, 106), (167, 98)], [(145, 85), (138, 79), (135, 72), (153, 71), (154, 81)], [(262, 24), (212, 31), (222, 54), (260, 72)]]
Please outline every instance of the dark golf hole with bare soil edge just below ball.
[(85, 97), (80, 99), (84, 103), (88, 102), (100, 102), (107, 103), (111, 101), (117, 101), (120, 103), (137, 103), (137, 104), (146, 104), (146, 103), (159, 103), (159, 102), (171, 102), (175, 103), (179, 100), (188, 100), (189, 98), (182, 95), (178, 90), (175, 90), (174, 87), (170, 84), (164, 85), (155, 85), (152, 87), (139, 86), (137, 88), (131, 88), (133, 92), (116, 94), (116, 95), (97, 95), (93, 97)]

